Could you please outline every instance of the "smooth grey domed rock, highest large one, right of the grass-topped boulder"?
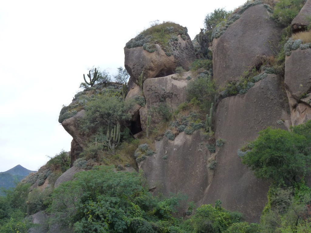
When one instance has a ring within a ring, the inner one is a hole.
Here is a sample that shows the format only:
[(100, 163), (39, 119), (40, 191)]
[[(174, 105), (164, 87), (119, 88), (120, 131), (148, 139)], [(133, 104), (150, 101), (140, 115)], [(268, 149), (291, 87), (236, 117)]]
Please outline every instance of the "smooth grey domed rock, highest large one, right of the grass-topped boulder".
[(263, 5), (249, 7), (218, 39), (213, 40), (213, 69), (217, 85), (234, 80), (250, 67), (273, 56), (281, 28)]

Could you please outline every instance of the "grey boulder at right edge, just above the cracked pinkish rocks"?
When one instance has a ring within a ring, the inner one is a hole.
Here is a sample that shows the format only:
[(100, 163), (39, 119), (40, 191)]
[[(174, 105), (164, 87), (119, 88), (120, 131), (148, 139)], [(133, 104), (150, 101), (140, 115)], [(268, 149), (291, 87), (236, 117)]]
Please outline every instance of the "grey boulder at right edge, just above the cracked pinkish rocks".
[(311, 48), (298, 48), (286, 56), (284, 83), (296, 100), (311, 91)]

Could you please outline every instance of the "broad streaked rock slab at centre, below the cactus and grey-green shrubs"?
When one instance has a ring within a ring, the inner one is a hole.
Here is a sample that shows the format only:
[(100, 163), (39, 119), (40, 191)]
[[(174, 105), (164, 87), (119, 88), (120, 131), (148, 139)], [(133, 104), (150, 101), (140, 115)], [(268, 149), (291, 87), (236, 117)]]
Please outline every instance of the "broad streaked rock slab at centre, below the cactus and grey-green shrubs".
[(208, 168), (213, 155), (205, 144), (200, 130), (193, 135), (182, 132), (174, 141), (164, 137), (156, 142), (156, 154), (139, 164), (151, 190), (165, 195), (181, 192), (188, 196), (188, 201), (197, 202), (214, 175), (214, 170)]

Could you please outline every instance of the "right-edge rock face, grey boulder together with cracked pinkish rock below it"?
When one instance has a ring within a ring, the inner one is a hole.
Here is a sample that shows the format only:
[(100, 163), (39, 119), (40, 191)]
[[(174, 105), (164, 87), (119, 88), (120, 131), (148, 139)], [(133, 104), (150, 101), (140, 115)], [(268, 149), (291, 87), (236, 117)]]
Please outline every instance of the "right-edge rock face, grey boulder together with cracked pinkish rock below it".
[(285, 89), (292, 125), (311, 119), (311, 49), (293, 50), (285, 58)]

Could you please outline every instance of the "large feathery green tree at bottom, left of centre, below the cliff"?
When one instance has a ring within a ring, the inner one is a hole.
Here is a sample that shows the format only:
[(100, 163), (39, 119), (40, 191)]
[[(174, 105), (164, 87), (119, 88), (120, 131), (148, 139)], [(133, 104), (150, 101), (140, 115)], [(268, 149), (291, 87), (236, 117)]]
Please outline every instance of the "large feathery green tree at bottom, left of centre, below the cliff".
[(176, 198), (155, 201), (137, 173), (96, 167), (54, 190), (53, 221), (75, 232), (168, 232)]

